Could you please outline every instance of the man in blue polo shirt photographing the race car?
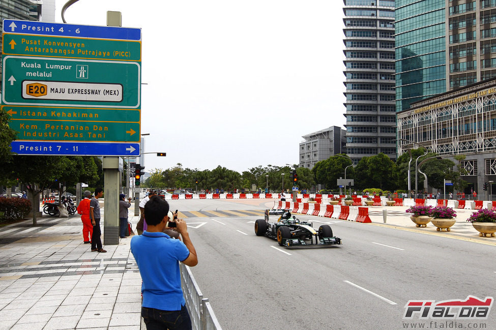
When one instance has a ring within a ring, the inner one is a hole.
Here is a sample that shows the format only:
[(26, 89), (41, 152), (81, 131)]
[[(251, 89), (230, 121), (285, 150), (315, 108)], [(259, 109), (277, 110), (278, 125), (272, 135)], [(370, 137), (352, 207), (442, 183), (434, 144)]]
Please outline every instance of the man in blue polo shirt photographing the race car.
[[(170, 219), (168, 212), (169, 204), (153, 196), (144, 207), (147, 230), (131, 239), (131, 252), (143, 280), (141, 316), (147, 329), (191, 329), (181, 289), (179, 261), (193, 267), (198, 258), (186, 222)], [(168, 221), (176, 222), (182, 242), (163, 233)]]

